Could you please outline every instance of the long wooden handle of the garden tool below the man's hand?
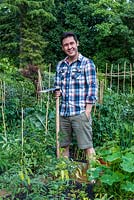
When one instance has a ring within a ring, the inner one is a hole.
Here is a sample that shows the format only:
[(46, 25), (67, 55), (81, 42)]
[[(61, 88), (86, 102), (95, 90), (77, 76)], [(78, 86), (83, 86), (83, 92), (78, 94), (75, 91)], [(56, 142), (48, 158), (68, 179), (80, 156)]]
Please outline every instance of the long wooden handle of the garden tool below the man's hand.
[(59, 97), (56, 97), (56, 154), (57, 158), (60, 157), (60, 145), (59, 145)]

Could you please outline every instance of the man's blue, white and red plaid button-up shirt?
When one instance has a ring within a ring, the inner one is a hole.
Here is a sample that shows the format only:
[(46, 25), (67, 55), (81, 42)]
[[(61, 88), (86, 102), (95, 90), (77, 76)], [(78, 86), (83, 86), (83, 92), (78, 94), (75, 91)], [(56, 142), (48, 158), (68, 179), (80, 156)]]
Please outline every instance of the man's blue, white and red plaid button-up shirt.
[(60, 61), (56, 68), (55, 86), (61, 90), (61, 116), (78, 115), (85, 111), (86, 104), (97, 100), (97, 80), (92, 60), (79, 54), (77, 61)]

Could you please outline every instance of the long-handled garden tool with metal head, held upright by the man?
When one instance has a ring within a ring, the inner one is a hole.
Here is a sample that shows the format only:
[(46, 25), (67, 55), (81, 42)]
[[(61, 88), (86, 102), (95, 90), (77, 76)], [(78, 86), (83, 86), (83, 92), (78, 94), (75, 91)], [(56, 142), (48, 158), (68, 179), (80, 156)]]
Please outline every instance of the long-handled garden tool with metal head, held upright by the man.
[[(59, 87), (49, 88), (46, 90), (41, 90), (39, 93), (55, 92), (59, 90)], [(59, 145), (59, 97), (56, 97), (56, 155), (57, 158), (60, 157), (60, 145)]]

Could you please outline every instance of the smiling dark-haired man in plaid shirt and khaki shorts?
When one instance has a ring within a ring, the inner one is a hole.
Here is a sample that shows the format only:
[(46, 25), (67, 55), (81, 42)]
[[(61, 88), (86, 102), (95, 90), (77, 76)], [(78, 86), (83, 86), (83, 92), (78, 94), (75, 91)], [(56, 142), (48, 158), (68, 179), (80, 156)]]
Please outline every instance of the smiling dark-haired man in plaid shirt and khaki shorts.
[(78, 52), (79, 42), (73, 32), (65, 32), (61, 46), (67, 57), (56, 68), (55, 86), (60, 90), (60, 147), (63, 156), (69, 157), (69, 145), (73, 133), (78, 147), (84, 149), (87, 159), (95, 155), (92, 141), (91, 110), (97, 100), (95, 65)]

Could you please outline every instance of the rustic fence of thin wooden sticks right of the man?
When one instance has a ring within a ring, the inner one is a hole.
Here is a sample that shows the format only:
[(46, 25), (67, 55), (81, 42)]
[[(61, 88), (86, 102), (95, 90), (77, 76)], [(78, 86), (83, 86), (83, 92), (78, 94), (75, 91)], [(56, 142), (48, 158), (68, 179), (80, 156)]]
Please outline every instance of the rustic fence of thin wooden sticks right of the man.
[(134, 64), (124, 63), (123, 65), (106, 64), (105, 73), (99, 73), (99, 102), (103, 102), (104, 90), (109, 88), (117, 93), (133, 93), (134, 90)]

